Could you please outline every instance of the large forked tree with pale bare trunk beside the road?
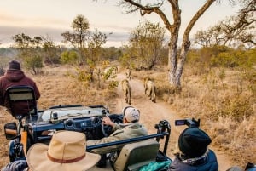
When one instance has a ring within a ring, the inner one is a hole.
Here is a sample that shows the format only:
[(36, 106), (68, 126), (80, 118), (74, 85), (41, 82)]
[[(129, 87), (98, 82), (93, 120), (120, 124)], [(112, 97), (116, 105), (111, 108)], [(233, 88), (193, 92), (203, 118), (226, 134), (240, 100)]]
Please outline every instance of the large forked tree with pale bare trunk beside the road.
[[(170, 33), (170, 40), (168, 44), (168, 76), (169, 83), (177, 89), (181, 88), (181, 76), (183, 74), (183, 66), (186, 60), (187, 53), (190, 47), (189, 33), (195, 22), (204, 14), (205, 11), (217, 0), (207, 0), (200, 9), (195, 13), (192, 19), (189, 21), (189, 25), (186, 27), (183, 33), (183, 42), (180, 51), (178, 51), (178, 33), (181, 26), (181, 13), (178, 0), (159, 0), (156, 3), (148, 3), (148, 1), (141, 0), (122, 0), (119, 1), (119, 5), (127, 9), (127, 13), (133, 13), (139, 11), (142, 16), (145, 14), (158, 14), (160, 19), (166, 26), (167, 31)], [(165, 11), (162, 9), (164, 4), (169, 4), (172, 9), (172, 23), (167, 18)]]

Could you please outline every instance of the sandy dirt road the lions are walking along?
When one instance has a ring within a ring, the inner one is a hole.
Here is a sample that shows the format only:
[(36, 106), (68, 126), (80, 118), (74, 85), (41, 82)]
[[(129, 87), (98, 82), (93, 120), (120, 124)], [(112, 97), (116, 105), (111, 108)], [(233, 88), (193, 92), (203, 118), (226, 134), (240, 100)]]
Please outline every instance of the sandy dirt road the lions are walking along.
[[(121, 81), (125, 79), (124, 74), (118, 74), (117, 80)], [(186, 126), (177, 127), (174, 125), (174, 121), (176, 119), (183, 119), (172, 110), (172, 106), (166, 104), (166, 102), (157, 100), (156, 103), (153, 103), (149, 100), (148, 96), (144, 94), (143, 82), (138, 79), (131, 78), (131, 105), (136, 107), (141, 111), (141, 123), (143, 123), (147, 128), (149, 134), (155, 134), (154, 124), (159, 123), (160, 120), (167, 120), (171, 123), (171, 139), (168, 145), (167, 154), (169, 157), (173, 158), (172, 151), (175, 149), (175, 145), (178, 139), (179, 134), (183, 131)], [(121, 86), (119, 84), (118, 88), (119, 97), (116, 100), (116, 104), (113, 106), (109, 106), (112, 113), (120, 113), (120, 111), (127, 106), (125, 103)], [(219, 163), (219, 170), (224, 171), (227, 168), (230, 168), (230, 160), (227, 156), (225, 156), (224, 151), (216, 151), (214, 147), (210, 146), (210, 148), (216, 152)]]

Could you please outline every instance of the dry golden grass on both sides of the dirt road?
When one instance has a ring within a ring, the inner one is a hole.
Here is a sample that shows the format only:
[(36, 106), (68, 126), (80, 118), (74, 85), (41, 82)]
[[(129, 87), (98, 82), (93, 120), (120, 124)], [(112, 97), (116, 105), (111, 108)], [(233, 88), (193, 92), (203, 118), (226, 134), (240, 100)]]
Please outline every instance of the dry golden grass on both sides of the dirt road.
[[(108, 105), (114, 112), (113, 99), (116, 92), (109, 89), (96, 89), (90, 83), (78, 82), (67, 77), (70, 67), (47, 68), (41, 76), (30, 76), (38, 84), (41, 98), (39, 108), (52, 105)], [(165, 67), (154, 71), (132, 71), (132, 78), (150, 76), (157, 85), (157, 98), (166, 100), (176, 113), (183, 117), (201, 118), (201, 128), (212, 137), (212, 145), (232, 157), (233, 163), (244, 167), (247, 162), (256, 161), (256, 104), (255, 97), (243, 82), (243, 91), (238, 92), (239, 72), (226, 71), (223, 83), (218, 78), (219, 70), (203, 75), (193, 75), (189, 67), (183, 73), (183, 89), (180, 94), (172, 94), (169, 88)], [(246, 107), (243, 107), (246, 106)], [(241, 110), (242, 109), (242, 110)], [(233, 115), (236, 113), (236, 115)], [(8, 142), (3, 134), (3, 124), (15, 119), (4, 108), (0, 108), (0, 168), (7, 162)]]

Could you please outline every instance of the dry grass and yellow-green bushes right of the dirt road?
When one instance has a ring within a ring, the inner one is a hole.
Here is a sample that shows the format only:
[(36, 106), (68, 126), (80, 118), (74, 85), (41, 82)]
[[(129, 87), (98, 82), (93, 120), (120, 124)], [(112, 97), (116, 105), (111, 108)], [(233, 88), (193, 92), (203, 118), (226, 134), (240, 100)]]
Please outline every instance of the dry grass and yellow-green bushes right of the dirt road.
[[(205, 121), (202, 128), (211, 135), (213, 145), (225, 151), (234, 164), (244, 167), (248, 161), (256, 160), (256, 51), (236, 49), (231, 52), (226, 49), (217, 52), (222, 48), (207, 48), (206, 56), (204, 48), (189, 51), (183, 88), (179, 94), (168, 86), (165, 71), (140, 72), (137, 77), (153, 77), (157, 99), (165, 100), (185, 118), (195, 117)], [(235, 57), (237, 53), (244, 58)], [(226, 65), (222, 62), (224, 59), (233, 60)], [(235, 63), (240, 64), (233, 66)]]

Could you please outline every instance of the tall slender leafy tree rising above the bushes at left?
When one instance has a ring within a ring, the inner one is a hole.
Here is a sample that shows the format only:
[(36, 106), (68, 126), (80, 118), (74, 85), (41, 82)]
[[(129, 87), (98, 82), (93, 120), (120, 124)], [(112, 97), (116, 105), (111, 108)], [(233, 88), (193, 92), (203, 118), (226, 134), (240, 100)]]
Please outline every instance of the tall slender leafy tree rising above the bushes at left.
[(79, 54), (84, 59), (84, 48), (86, 40), (90, 36), (89, 21), (82, 14), (78, 14), (73, 20), (72, 26), (73, 32), (65, 31), (61, 34), (64, 38), (64, 43), (71, 43), (74, 48), (79, 50)]

